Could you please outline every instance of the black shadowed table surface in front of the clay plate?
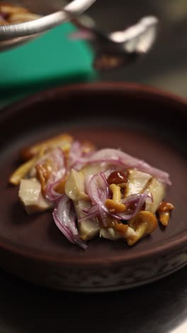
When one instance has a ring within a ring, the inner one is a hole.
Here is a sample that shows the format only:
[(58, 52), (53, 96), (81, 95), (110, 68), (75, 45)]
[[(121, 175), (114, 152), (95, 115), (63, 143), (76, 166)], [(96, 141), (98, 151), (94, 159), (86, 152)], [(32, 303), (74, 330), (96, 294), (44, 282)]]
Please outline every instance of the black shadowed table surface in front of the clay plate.
[(0, 322), (8, 333), (166, 333), (186, 317), (186, 278), (183, 268), (133, 290), (79, 294), (47, 290), (1, 271)]

